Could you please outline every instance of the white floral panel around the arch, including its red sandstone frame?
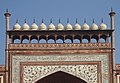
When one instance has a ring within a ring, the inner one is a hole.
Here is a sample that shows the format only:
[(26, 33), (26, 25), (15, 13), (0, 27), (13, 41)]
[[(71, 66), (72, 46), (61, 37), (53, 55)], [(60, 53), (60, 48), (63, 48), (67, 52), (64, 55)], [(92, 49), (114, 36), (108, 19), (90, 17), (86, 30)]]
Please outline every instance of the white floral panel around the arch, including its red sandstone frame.
[(21, 83), (33, 83), (58, 71), (69, 73), (87, 83), (99, 83), (100, 80), (100, 62), (41, 63), (21, 63)]

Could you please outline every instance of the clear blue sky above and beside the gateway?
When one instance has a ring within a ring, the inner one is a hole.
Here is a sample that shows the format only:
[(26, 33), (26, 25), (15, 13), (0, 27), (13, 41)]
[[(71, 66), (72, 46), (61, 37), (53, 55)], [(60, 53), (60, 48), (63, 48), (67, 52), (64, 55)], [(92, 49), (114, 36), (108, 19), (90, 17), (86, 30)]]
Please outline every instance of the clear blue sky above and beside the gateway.
[(24, 19), (31, 25), (33, 19), (36, 19), (36, 24), (41, 24), (42, 18), (48, 26), (50, 19), (53, 19), (55, 25), (58, 24), (58, 19), (61, 19), (63, 25), (66, 25), (67, 18), (70, 19), (72, 25), (75, 24), (75, 19), (78, 18), (80, 25), (83, 24), (84, 18), (88, 25), (92, 24), (92, 19), (100, 25), (101, 18), (110, 29), (109, 12), (111, 7), (116, 12), (115, 16), (115, 62), (120, 63), (120, 0), (0, 0), (0, 64), (5, 63), (5, 17), (6, 9), (11, 13), (10, 29), (16, 19), (22, 26)]

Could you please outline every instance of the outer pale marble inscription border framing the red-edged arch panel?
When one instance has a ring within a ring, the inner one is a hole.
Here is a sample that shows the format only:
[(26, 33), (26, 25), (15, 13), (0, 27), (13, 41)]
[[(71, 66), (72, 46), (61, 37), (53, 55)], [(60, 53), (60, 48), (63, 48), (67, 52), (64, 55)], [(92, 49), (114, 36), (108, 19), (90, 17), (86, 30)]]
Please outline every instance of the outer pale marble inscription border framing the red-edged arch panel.
[(109, 83), (109, 55), (108, 54), (73, 54), (73, 55), (13, 55), (12, 83), (20, 83), (20, 62), (45, 61), (101, 61), (102, 83)]

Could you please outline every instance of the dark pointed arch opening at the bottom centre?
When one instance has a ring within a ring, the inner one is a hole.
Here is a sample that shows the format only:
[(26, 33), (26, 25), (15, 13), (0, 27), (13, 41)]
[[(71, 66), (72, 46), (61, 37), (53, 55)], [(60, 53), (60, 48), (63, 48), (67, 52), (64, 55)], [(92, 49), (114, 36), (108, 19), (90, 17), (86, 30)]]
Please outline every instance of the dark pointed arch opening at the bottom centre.
[(68, 73), (59, 71), (51, 75), (48, 75), (35, 83), (87, 83), (87, 82)]

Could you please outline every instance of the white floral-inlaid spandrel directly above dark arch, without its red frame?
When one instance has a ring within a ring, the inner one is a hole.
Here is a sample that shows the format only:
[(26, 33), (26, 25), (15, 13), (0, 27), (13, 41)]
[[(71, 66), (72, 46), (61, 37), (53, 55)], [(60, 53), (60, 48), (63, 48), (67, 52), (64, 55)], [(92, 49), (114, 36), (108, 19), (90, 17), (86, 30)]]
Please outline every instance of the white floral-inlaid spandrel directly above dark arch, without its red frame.
[(63, 71), (85, 80), (87, 83), (98, 83), (97, 65), (45, 65), (24, 66), (23, 83), (33, 83), (47, 75)]

